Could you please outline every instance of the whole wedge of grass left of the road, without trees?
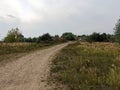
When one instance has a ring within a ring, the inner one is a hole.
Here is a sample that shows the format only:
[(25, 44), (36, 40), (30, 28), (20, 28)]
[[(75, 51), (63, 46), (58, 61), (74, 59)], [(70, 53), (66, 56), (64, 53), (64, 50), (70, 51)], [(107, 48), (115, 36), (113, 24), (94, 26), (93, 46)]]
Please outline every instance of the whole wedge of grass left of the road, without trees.
[[(47, 48), (58, 43), (0, 43), (0, 63), (6, 63), (29, 52)], [(2, 64), (3, 64), (2, 63)]]

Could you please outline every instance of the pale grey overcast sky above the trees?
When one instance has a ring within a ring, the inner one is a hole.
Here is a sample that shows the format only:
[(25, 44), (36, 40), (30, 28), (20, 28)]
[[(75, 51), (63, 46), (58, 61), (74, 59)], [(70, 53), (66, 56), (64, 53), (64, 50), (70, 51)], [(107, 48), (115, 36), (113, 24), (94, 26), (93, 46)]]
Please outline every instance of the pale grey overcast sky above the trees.
[(0, 0), (0, 38), (15, 27), (26, 37), (113, 33), (119, 16), (120, 0)]

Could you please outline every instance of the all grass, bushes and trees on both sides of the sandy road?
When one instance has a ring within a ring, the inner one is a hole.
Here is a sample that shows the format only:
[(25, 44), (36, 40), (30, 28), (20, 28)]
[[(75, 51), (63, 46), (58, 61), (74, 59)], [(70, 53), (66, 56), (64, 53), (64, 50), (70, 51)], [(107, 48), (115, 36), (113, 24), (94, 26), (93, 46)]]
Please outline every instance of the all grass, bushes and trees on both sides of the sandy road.
[(120, 90), (120, 19), (114, 34), (65, 32), (61, 36), (45, 33), (25, 37), (19, 28), (11, 29), (0, 41), (0, 63), (67, 41), (78, 42), (62, 49), (53, 60), (51, 75), (55, 82), (68, 90)]

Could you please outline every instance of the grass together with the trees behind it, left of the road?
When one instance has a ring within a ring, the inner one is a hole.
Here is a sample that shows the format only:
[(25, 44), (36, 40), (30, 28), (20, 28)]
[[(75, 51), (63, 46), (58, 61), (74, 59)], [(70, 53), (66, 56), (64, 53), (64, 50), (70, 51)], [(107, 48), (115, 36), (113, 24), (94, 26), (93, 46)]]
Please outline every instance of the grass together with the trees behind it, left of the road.
[(0, 62), (21, 57), (26, 53), (43, 49), (52, 45), (75, 40), (72, 33), (63, 33), (62, 37), (45, 33), (39, 37), (26, 38), (18, 28), (8, 31), (6, 37), (0, 42)]

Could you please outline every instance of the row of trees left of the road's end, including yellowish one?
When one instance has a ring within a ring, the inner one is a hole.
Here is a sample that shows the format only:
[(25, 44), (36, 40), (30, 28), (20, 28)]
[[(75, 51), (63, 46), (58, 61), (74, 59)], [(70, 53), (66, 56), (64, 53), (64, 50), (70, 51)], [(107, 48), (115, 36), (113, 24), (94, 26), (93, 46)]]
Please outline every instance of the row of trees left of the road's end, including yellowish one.
[(52, 36), (49, 33), (45, 33), (39, 37), (26, 38), (18, 28), (11, 29), (10, 31), (8, 31), (7, 36), (4, 38), (4, 42), (7, 43), (13, 42), (48, 43), (48, 42), (65, 42), (73, 40), (76, 40), (76, 36), (71, 32), (63, 33), (61, 37), (59, 35)]

